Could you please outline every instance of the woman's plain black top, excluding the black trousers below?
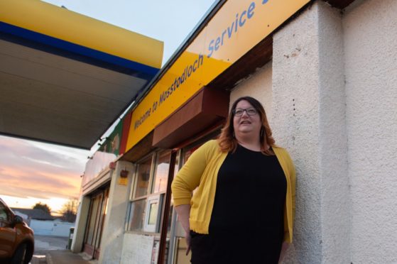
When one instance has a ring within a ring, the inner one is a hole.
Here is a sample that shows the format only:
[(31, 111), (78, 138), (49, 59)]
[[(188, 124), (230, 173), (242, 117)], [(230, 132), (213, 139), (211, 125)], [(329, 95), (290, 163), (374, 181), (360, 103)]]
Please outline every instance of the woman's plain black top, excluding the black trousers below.
[(239, 145), (219, 169), (210, 233), (283, 229), (287, 181), (276, 155)]

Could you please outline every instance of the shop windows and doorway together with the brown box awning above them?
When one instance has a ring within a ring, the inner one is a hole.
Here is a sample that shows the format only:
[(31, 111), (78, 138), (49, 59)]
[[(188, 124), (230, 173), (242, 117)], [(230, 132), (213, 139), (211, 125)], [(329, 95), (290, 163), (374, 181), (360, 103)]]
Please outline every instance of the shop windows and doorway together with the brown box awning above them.
[[(214, 138), (227, 116), (229, 92), (202, 89), (121, 160), (134, 163), (121, 263), (189, 263), (170, 183), (190, 154)], [(148, 141), (148, 144), (144, 142)], [(146, 246), (143, 250), (142, 245)], [(187, 261), (187, 262), (186, 262)]]

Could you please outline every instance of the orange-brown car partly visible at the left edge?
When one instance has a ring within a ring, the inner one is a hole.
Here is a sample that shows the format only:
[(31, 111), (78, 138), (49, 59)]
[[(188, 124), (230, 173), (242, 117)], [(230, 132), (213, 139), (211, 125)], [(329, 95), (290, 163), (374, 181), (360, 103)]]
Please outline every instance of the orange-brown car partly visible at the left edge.
[(33, 250), (33, 230), (0, 198), (0, 263), (28, 264)]

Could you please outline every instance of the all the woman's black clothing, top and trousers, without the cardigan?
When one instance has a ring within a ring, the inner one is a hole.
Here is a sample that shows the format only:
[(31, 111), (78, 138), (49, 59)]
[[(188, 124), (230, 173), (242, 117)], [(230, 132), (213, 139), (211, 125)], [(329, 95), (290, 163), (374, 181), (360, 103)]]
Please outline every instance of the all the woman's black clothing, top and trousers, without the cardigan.
[(192, 263), (277, 263), (286, 189), (276, 155), (239, 145), (218, 172), (210, 234), (192, 232)]

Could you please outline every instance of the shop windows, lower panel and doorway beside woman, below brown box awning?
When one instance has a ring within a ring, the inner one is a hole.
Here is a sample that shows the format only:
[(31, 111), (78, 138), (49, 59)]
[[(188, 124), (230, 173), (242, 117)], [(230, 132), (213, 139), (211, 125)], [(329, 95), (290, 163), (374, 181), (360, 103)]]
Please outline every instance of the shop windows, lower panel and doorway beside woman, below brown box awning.
[[(168, 183), (194, 150), (218, 133), (219, 129), (215, 128), (178, 148), (155, 151), (138, 161), (135, 190), (131, 193), (128, 226), (124, 234), (123, 263), (129, 263), (128, 255), (138, 255), (134, 248), (127, 245), (129, 239), (144, 239), (142, 234), (153, 238), (153, 248), (149, 254), (142, 254), (139, 261), (143, 262), (146, 258), (147, 263), (190, 263), (190, 255), (185, 254), (185, 233), (173, 209), (172, 199), (167, 196), (170, 193)], [(136, 197), (140, 192), (143, 194), (142, 190), (146, 195)]]

